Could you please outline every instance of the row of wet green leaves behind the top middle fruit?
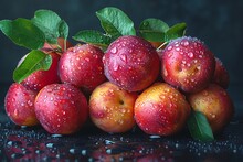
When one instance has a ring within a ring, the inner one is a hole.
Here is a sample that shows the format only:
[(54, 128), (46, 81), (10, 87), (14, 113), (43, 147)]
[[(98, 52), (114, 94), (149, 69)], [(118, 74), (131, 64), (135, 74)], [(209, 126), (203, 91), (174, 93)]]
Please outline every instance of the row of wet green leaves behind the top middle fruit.
[(97, 11), (96, 15), (104, 33), (95, 30), (80, 31), (73, 36), (75, 41), (95, 44), (106, 50), (119, 36), (138, 34), (149, 42), (160, 42), (165, 45), (170, 40), (183, 36), (187, 29), (186, 23), (178, 23), (169, 28), (162, 20), (149, 18), (145, 19), (136, 30), (130, 18), (122, 10), (113, 7)]

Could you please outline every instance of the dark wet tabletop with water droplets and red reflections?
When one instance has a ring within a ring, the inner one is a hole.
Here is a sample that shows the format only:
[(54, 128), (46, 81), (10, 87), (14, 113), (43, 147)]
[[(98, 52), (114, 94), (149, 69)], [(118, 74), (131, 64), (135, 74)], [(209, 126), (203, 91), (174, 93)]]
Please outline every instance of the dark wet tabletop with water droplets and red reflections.
[(138, 128), (108, 134), (85, 127), (73, 136), (49, 134), (41, 127), (18, 127), (0, 119), (1, 161), (241, 161), (243, 121), (237, 119), (213, 142), (199, 142), (187, 130), (176, 137), (149, 136)]

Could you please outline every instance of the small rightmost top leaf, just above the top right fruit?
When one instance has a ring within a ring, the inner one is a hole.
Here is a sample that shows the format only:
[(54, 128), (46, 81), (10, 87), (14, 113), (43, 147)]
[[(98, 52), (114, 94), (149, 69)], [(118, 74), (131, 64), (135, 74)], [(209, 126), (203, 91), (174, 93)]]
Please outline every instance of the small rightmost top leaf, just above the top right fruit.
[(183, 36), (186, 29), (187, 24), (183, 22), (175, 24), (166, 32), (165, 42), (169, 42), (170, 40)]

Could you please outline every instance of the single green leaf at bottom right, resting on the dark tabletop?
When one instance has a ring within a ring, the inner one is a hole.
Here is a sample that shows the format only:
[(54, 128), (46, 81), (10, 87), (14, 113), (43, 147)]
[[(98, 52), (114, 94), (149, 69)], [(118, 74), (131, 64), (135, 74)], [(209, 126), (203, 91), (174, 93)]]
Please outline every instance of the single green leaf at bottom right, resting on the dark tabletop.
[(213, 132), (207, 117), (199, 111), (192, 111), (188, 120), (188, 128), (191, 137), (200, 141), (213, 141)]

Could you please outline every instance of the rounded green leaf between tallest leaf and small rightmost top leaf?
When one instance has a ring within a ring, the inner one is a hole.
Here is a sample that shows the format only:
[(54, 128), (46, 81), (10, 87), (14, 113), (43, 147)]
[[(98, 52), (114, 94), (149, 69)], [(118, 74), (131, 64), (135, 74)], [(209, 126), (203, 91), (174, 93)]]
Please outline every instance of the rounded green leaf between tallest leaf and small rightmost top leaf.
[(139, 25), (141, 37), (151, 42), (165, 42), (165, 33), (169, 30), (167, 23), (159, 19), (146, 19)]

